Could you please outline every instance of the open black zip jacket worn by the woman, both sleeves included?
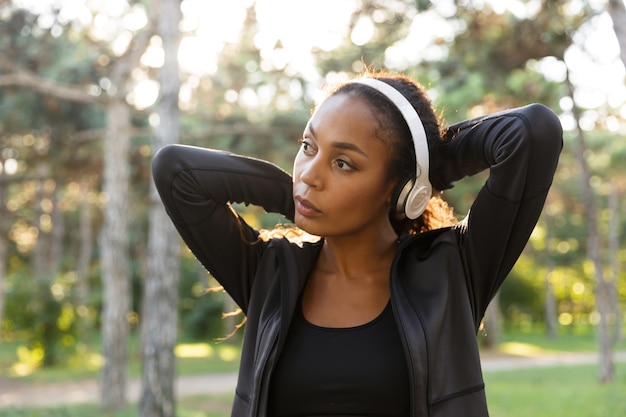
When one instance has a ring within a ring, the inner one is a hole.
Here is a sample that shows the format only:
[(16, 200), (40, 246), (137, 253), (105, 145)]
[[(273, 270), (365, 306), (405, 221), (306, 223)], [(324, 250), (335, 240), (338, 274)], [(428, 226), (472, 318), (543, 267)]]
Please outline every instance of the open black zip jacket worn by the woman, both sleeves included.
[[(414, 417), (488, 415), (476, 332), (537, 222), (562, 147), (559, 120), (542, 105), (453, 128), (445, 180), (490, 175), (458, 226), (405, 238), (393, 263)], [(246, 243), (258, 232), (227, 203), (293, 218), (291, 177), (261, 160), (181, 145), (155, 155), (153, 175), (184, 241), (247, 316), (232, 415), (265, 416), (269, 378), (321, 243)]]

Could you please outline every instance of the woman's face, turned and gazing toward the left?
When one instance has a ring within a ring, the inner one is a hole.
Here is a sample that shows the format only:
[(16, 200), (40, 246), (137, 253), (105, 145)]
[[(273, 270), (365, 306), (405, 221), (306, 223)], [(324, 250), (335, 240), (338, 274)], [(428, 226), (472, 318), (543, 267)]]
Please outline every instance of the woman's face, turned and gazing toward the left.
[(313, 114), (293, 168), (295, 222), (322, 236), (389, 233), (389, 145), (367, 102), (337, 94)]

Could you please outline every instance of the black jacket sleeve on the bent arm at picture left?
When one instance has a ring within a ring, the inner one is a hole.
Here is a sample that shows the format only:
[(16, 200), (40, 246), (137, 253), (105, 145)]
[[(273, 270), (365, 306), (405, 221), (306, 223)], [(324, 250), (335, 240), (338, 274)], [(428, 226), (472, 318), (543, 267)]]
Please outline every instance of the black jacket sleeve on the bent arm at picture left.
[(196, 258), (247, 310), (266, 247), (229, 203), (263, 207), (292, 219), (289, 174), (268, 162), (205, 148), (169, 145), (152, 162), (165, 209)]

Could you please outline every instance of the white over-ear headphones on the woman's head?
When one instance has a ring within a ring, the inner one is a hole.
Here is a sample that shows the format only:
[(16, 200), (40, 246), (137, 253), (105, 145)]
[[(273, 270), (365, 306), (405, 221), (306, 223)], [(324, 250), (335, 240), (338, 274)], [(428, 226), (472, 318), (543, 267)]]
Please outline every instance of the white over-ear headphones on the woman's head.
[(432, 186), (428, 180), (428, 141), (419, 115), (398, 90), (376, 78), (356, 78), (351, 83), (363, 84), (382, 93), (400, 111), (409, 126), (415, 147), (415, 178), (409, 178), (395, 193), (396, 212), (411, 220), (417, 219), (426, 210), (432, 196)]

